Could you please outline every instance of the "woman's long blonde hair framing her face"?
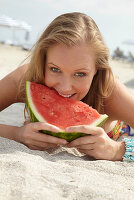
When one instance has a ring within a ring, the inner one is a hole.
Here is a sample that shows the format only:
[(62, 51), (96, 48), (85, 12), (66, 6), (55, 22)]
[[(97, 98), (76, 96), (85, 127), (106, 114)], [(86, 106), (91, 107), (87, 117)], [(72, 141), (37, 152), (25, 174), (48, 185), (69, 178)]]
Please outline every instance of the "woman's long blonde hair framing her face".
[[(34, 46), (25, 80), (44, 84), (46, 52), (55, 44), (68, 47), (86, 42), (93, 49), (97, 73), (88, 94), (82, 99), (98, 112), (104, 112), (104, 98), (112, 92), (113, 74), (109, 66), (109, 50), (94, 20), (83, 13), (66, 13), (55, 18), (42, 33)], [(24, 92), (24, 84), (21, 84)]]

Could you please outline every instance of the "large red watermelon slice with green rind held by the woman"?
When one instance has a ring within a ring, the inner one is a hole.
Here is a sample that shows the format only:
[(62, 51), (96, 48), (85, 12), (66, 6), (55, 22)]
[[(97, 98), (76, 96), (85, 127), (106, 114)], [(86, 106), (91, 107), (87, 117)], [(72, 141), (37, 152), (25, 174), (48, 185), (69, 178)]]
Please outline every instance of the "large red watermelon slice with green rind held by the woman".
[(42, 132), (64, 138), (68, 142), (85, 136), (81, 132), (65, 132), (65, 128), (77, 125), (101, 126), (108, 118), (100, 115), (87, 104), (60, 96), (55, 90), (44, 85), (26, 81), (26, 104), (32, 122), (47, 122), (63, 131), (55, 133), (48, 130)]

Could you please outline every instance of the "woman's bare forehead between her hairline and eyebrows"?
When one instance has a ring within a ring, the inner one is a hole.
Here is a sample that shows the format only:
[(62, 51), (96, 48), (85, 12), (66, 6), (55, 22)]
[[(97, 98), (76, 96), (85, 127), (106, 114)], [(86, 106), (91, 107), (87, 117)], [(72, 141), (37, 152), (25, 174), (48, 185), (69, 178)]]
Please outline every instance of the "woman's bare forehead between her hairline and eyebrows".
[(46, 62), (57, 66), (83, 67), (95, 65), (95, 54), (85, 44), (67, 47), (64, 44), (56, 44), (47, 50)]

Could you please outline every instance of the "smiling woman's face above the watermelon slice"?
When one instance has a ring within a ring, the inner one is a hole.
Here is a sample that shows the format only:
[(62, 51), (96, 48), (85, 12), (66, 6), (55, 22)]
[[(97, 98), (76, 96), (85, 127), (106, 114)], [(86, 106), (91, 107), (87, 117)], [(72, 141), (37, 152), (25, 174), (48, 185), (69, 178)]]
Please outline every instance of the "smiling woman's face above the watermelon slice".
[(95, 73), (95, 55), (84, 43), (72, 48), (57, 44), (47, 51), (45, 85), (61, 96), (83, 99)]

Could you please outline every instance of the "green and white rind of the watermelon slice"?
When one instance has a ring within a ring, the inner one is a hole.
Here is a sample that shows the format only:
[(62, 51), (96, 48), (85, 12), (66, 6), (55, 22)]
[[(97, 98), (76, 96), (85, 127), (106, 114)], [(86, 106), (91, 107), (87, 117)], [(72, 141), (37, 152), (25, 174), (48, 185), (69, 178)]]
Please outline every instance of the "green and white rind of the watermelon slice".
[[(44, 122), (43, 118), (40, 118), (40, 116), (38, 115), (38, 113), (35, 111), (36, 108), (34, 108), (34, 105), (32, 105), (32, 103), (30, 102), (30, 98), (28, 98), (29, 96), (29, 86), (30, 86), (30, 82), (26, 81), (26, 105), (29, 111), (29, 115), (31, 118), (32, 122)], [(36, 112), (36, 114), (34, 114)], [(100, 127), (102, 126), (105, 121), (107, 120), (108, 116), (106, 114), (101, 115), (101, 117), (99, 119), (97, 119), (95, 122), (93, 122), (92, 126), (96, 126), (96, 127)], [(40, 132), (54, 136), (54, 137), (58, 137), (58, 138), (63, 138), (68, 142), (71, 142), (72, 140), (75, 140), (79, 137), (83, 137), (86, 136), (88, 134), (86, 133), (82, 133), (82, 132), (71, 132), (71, 133), (67, 133), (67, 132), (52, 132), (52, 131), (48, 131), (48, 130), (40, 130)]]

